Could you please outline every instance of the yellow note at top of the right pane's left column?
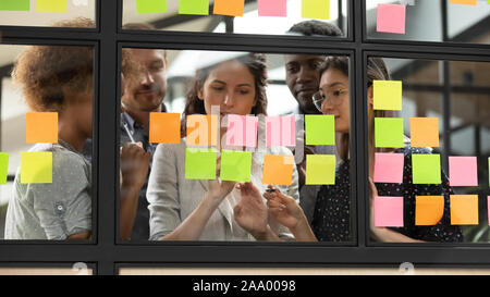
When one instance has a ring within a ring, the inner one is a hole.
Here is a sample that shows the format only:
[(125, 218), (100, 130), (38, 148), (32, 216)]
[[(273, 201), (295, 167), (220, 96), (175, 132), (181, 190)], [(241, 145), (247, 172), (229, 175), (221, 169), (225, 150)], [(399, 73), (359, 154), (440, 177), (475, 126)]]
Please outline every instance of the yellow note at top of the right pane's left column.
[(402, 110), (402, 82), (373, 81), (375, 110)]

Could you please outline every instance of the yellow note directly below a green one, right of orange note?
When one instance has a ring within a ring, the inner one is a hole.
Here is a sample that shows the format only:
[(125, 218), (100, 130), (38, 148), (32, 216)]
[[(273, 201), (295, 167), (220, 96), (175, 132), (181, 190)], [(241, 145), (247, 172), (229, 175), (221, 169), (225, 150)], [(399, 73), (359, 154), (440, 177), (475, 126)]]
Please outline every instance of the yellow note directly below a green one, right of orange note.
[(306, 156), (306, 185), (335, 184), (335, 154)]

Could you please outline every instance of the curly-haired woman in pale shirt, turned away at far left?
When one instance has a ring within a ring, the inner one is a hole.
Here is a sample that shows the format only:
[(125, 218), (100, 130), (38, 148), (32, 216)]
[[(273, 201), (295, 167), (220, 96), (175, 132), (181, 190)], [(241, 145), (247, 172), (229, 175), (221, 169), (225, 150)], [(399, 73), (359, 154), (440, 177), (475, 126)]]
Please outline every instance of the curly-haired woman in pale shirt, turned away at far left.
[[(75, 18), (54, 26), (94, 27), (94, 22)], [(126, 76), (133, 75), (130, 69), (126, 58)], [(12, 77), (33, 111), (58, 113), (58, 143), (36, 144), (29, 150), (52, 153), (52, 183), (22, 183), (17, 169), (5, 239), (90, 238), (91, 165), (82, 150), (93, 135), (93, 73), (91, 47), (30, 46), (19, 57)], [(123, 183), (137, 187), (138, 176), (146, 176), (145, 162), (148, 170), (148, 153), (132, 144), (122, 149), (121, 159), (137, 160), (122, 171)]]

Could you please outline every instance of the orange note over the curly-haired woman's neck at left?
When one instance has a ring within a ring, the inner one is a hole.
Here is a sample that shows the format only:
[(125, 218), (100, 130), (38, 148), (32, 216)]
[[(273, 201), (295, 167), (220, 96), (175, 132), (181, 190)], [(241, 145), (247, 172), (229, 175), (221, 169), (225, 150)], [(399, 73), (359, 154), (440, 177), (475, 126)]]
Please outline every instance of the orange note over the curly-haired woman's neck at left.
[(25, 141), (57, 144), (58, 112), (27, 112)]

